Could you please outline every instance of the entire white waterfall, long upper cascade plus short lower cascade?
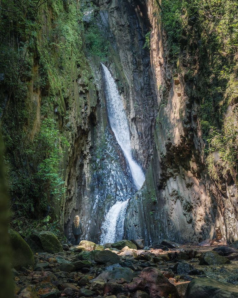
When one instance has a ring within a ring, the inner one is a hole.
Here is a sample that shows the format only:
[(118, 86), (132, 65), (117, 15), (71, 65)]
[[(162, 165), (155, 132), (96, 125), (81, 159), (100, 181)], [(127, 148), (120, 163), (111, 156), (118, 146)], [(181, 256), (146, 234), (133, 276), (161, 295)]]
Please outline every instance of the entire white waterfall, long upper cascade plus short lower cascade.
[[(104, 92), (109, 123), (128, 161), (134, 185), (139, 190), (145, 181), (145, 175), (142, 168), (132, 157), (130, 131), (123, 102), (111, 73), (105, 65), (102, 63), (101, 65), (104, 74)], [(117, 201), (107, 212), (101, 227), (101, 244), (113, 243), (123, 238), (124, 219), (128, 202), (129, 199), (126, 201)]]

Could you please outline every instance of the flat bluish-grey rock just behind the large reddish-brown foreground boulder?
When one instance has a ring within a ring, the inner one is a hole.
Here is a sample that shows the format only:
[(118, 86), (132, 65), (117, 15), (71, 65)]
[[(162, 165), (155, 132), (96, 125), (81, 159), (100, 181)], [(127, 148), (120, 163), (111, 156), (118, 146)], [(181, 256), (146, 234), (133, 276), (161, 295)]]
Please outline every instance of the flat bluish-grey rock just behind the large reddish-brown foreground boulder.
[(112, 271), (106, 270), (100, 273), (93, 280), (106, 280), (109, 279), (121, 279), (124, 278), (127, 282), (130, 282), (134, 277), (138, 276), (138, 272), (134, 272), (129, 268), (114, 268)]

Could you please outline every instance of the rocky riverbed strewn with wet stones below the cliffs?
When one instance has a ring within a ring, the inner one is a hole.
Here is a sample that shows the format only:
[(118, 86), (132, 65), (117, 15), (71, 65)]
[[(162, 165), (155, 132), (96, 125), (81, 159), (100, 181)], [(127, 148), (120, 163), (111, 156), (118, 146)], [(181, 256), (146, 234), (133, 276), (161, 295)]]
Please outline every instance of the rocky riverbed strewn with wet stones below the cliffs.
[(143, 240), (104, 246), (82, 240), (78, 246), (59, 246), (49, 232), (33, 238), (35, 242), (26, 240), (34, 264), (30, 256), (21, 257), (28, 244), (15, 238), (26, 246), (22, 251), (18, 246), (18, 260), (25, 266), (12, 262), (18, 298), (238, 297), (238, 241), (192, 246), (162, 240), (153, 243), (153, 249), (143, 247)]

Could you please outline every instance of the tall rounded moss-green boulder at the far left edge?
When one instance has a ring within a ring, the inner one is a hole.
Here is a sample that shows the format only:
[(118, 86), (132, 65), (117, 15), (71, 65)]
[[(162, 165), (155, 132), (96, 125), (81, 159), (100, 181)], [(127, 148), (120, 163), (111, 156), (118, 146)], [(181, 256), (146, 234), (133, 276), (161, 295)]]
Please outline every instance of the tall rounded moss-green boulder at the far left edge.
[(14, 230), (10, 229), (10, 244), (12, 247), (12, 266), (19, 270), (21, 267), (34, 266), (33, 252), (26, 241)]

